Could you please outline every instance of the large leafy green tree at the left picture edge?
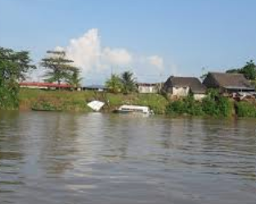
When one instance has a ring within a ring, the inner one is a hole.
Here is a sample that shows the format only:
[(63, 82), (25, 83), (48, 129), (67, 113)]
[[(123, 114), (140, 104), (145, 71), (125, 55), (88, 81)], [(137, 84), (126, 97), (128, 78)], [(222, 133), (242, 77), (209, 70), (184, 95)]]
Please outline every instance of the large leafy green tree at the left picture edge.
[(16, 109), (19, 100), (19, 80), (25, 80), (29, 70), (36, 69), (28, 51), (13, 51), (0, 47), (0, 109)]

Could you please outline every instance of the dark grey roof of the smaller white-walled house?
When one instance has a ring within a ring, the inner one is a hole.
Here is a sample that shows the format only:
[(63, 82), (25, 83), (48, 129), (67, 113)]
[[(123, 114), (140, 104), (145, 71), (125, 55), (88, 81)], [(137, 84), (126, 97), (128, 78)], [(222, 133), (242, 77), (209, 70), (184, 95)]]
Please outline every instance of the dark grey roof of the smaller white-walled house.
[(198, 78), (191, 77), (173, 77), (167, 79), (164, 87), (190, 87), (194, 94), (205, 93), (206, 87), (200, 82)]

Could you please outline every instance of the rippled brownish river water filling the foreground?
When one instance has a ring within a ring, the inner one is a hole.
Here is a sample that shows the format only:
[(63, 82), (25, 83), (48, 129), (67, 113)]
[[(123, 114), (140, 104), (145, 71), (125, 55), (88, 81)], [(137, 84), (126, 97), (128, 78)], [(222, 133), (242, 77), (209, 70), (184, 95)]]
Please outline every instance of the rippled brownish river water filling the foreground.
[(255, 120), (0, 112), (0, 203), (256, 203)]

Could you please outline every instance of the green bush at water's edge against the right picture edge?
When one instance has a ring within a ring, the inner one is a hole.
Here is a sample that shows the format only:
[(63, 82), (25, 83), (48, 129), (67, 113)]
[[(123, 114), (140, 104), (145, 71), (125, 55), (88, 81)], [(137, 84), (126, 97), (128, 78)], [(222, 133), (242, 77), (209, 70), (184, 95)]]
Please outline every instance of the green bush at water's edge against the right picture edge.
[(256, 108), (254, 104), (241, 101), (236, 103), (236, 114), (238, 117), (256, 117)]

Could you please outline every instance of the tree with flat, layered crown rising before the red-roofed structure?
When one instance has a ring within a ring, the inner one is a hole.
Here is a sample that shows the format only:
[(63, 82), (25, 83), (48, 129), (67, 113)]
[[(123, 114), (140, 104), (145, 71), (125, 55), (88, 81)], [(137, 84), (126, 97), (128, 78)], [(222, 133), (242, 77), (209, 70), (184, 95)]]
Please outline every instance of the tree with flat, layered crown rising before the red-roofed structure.
[(47, 82), (61, 82), (67, 81), (71, 78), (73, 73), (79, 73), (79, 69), (72, 65), (73, 60), (65, 58), (65, 51), (47, 51), (49, 56), (43, 58), (41, 66), (48, 69), (45, 77)]

